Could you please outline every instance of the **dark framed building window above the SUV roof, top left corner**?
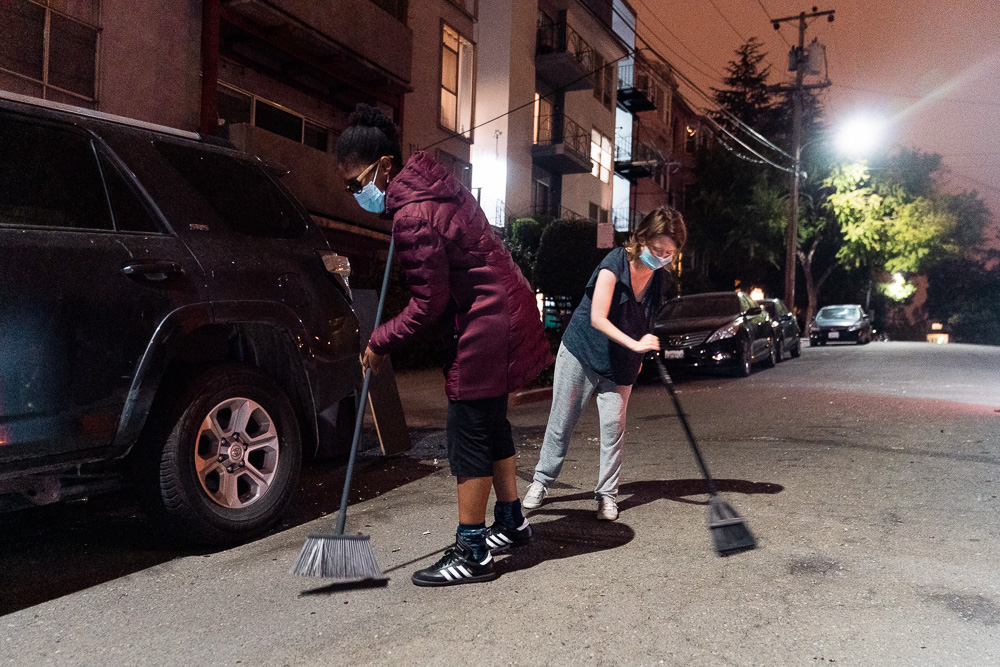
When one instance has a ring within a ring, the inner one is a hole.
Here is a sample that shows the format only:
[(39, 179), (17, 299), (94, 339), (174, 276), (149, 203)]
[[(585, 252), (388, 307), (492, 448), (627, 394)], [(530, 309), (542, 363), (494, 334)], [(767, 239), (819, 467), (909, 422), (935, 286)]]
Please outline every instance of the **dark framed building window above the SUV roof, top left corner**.
[(58, 91), (94, 101), (98, 32), (28, 0), (0, 2), (0, 70), (41, 84), (45, 99)]

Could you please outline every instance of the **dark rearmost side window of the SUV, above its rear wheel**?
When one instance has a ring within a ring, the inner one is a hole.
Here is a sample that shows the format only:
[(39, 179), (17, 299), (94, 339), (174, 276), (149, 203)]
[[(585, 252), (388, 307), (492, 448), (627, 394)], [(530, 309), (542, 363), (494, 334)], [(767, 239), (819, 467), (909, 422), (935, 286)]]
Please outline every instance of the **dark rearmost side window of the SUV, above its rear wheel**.
[(292, 203), (256, 165), (178, 144), (158, 142), (156, 148), (234, 231), (280, 239), (305, 232)]

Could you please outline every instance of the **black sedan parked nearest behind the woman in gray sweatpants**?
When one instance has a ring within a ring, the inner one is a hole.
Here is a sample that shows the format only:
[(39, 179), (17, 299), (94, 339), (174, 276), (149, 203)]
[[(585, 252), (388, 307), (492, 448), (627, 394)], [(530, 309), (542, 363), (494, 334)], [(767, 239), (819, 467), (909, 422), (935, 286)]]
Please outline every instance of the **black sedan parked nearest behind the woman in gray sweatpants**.
[(742, 292), (709, 292), (671, 299), (657, 316), (663, 360), (672, 368), (727, 369), (750, 375), (751, 366), (778, 360), (774, 326)]

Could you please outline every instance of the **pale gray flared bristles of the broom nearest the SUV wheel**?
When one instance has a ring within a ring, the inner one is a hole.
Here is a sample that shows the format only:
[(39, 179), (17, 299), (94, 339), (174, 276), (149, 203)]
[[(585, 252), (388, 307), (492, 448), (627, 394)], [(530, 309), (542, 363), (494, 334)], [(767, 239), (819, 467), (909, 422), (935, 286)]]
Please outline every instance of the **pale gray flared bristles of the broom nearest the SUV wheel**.
[(310, 535), (291, 573), (342, 581), (385, 578), (367, 535)]

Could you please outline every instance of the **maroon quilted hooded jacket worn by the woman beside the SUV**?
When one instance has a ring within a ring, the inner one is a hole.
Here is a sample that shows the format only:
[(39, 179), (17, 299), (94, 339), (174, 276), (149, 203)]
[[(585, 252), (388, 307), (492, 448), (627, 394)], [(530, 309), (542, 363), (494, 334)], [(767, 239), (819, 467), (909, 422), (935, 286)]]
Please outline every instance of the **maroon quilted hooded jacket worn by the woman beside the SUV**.
[(410, 301), (376, 329), (377, 354), (437, 327), (451, 349), (451, 400), (507, 394), (552, 363), (535, 295), (472, 194), (427, 153), (415, 153), (386, 191)]

